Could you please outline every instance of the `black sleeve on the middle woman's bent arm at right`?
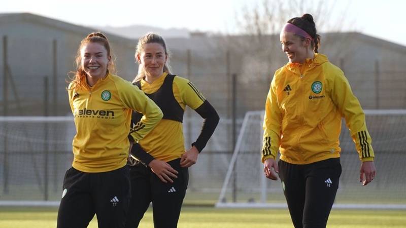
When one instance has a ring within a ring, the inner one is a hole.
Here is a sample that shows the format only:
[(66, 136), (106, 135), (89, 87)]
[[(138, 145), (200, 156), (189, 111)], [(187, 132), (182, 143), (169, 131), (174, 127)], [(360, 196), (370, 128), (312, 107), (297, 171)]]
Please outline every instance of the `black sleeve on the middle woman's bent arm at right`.
[(207, 100), (196, 108), (195, 111), (203, 119), (205, 119), (203, 126), (201, 127), (199, 137), (197, 137), (196, 141), (192, 143), (192, 146), (195, 146), (200, 153), (201, 150), (205, 148), (210, 137), (213, 135), (213, 132), (219, 123), (220, 117), (214, 107)]

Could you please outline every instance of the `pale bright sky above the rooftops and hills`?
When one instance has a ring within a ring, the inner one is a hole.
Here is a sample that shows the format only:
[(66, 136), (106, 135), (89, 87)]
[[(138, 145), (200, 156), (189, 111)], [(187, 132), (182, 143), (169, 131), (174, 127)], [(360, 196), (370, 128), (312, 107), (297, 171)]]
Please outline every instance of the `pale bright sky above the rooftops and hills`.
[[(243, 7), (253, 7), (261, 2), (262, 0), (5, 0), (0, 13), (29, 12), (84, 26), (121, 27), (138, 24), (225, 33), (235, 31), (234, 19), (241, 14)], [(341, 4), (342, 2), (345, 1), (338, 1), (335, 7), (353, 18), (358, 31), (406, 46), (403, 25), (406, 1), (353, 0), (349, 9), (345, 9), (347, 4)], [(317, 24), (320, 19), (315, 20)]]

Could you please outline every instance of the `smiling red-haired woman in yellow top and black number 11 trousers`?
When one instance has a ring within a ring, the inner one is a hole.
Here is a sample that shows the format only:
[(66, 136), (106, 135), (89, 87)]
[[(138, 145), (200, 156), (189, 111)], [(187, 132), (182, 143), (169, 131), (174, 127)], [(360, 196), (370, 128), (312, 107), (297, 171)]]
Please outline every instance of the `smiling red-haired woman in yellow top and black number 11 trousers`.
[(114, 75), (107, 37), (93, 32), (82, 40), (69, 103), (76, 126), (74, 159), (63, 180), (57, 227), (124, 227), (130, 199), (126, 166), (132, 111), (143, 113), (131, 136), (143, 138), (162, 118), (159, 107), (137, 87)]

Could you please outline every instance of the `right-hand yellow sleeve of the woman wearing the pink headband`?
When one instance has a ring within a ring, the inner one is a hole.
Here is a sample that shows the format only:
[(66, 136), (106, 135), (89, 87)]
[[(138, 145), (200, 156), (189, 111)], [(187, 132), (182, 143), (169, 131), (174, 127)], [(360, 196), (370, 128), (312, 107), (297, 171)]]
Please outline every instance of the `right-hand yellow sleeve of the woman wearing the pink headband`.
[(371, 136), (366, 129), (365, 114), (341, 70), (335, 75), (331, 98), (346, 120), (359, 159), (362, 162), (374, 161), (375, 154)]

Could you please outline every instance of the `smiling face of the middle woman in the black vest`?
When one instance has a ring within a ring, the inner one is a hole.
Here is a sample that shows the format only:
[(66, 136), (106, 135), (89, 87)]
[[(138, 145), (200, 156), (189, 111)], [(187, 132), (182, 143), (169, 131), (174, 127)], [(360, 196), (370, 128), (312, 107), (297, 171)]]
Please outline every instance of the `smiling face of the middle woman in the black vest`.
[(145, 44), (141, 53), (137, 55), (137, 58), (144, 67), (147, 77), (158, 78), (162, 75), (167, 55), (161, 44)]

